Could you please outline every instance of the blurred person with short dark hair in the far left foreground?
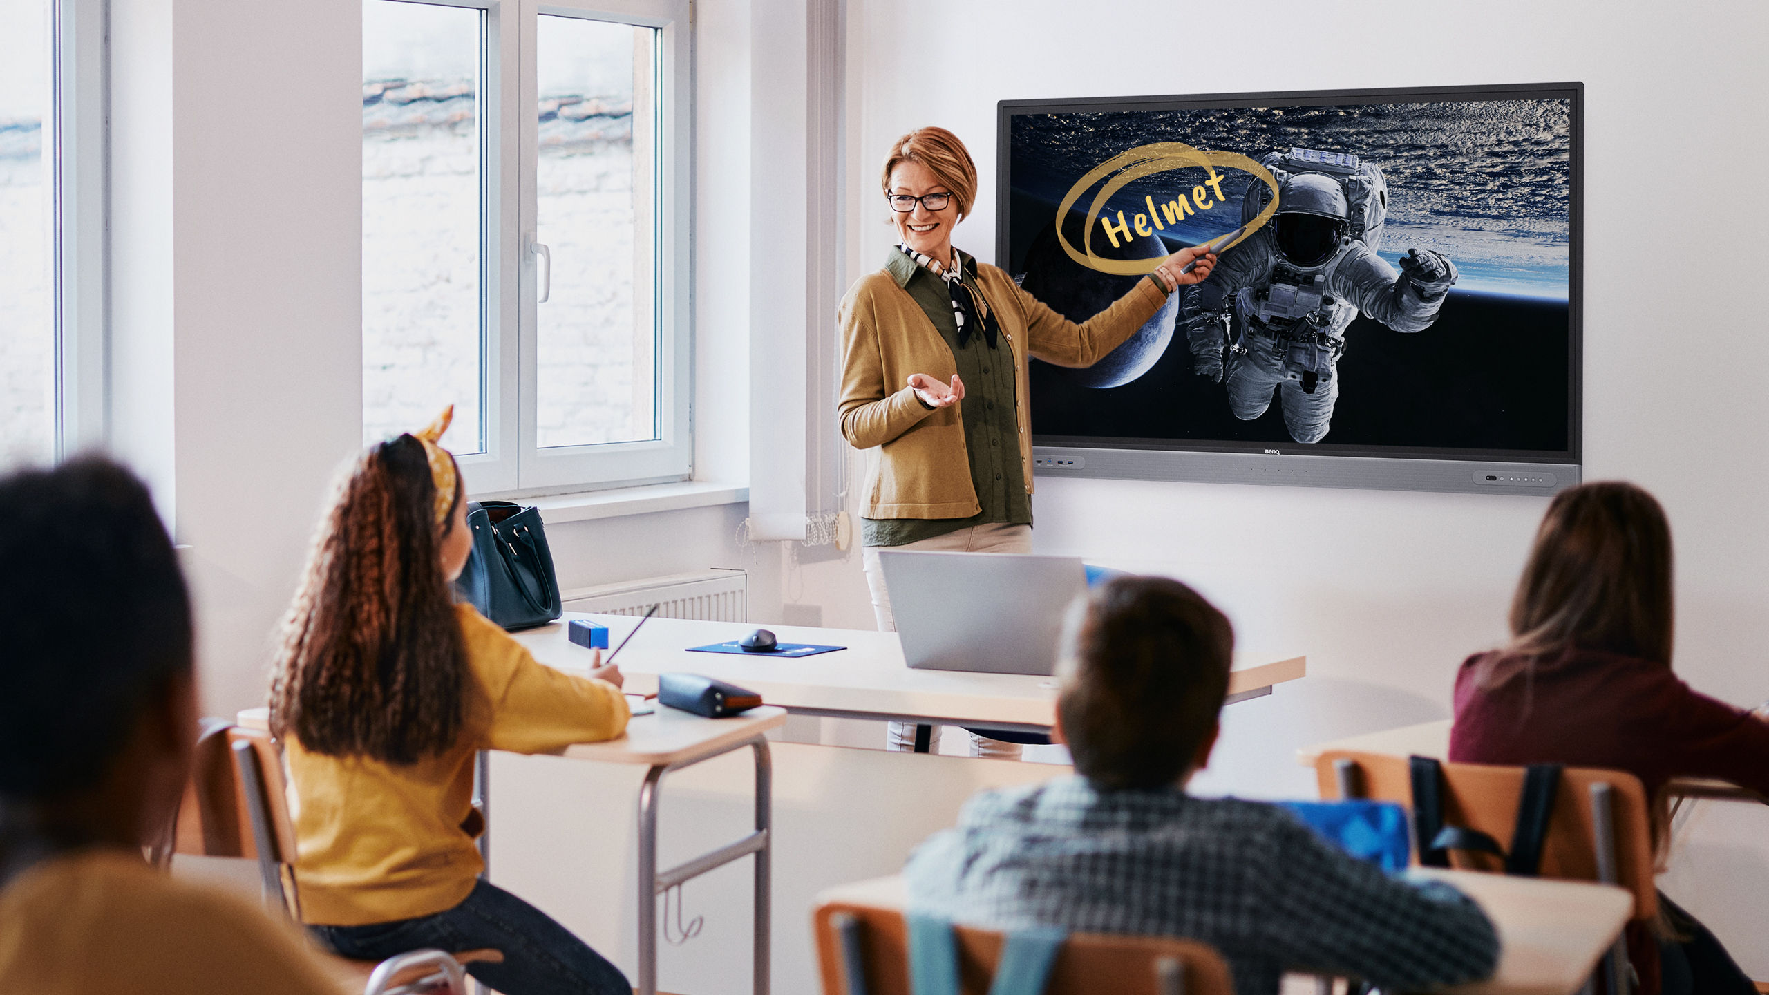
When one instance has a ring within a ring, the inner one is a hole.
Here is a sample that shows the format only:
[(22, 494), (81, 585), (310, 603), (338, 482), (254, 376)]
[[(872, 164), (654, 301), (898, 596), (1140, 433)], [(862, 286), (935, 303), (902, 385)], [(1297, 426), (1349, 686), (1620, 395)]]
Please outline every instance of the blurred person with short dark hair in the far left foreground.
[(333, 995), (301, 935), (157, 873), (196, 742), (191, 605), (147, 487), (0, 478), (0, 991)]

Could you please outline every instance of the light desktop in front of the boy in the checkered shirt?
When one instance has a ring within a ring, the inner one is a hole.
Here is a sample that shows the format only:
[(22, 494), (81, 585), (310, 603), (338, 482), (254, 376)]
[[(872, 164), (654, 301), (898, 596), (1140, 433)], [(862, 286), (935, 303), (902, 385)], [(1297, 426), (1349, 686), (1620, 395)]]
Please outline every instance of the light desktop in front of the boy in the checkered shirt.
[[(1633, 912), (1633, 898), (1613, 885), (1512, 878), (1475, 871), (1415, 871), (1456, 885), (1498, 931), (1493, 977), (1445, 988), (1456, 995), (1567, 995), (1590, 977)], [(902, 878), (874, 878), (830, 889), (817, 903), (840, 901), (900, 912)]]

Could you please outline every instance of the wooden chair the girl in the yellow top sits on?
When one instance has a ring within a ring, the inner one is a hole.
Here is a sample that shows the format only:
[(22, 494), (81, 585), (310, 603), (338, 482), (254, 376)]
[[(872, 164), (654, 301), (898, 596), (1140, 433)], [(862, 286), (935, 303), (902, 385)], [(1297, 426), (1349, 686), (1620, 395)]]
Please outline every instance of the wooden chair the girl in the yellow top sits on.
[[(283, 758), (269, 733), (221, 719), (203, 721), (184, 800), (152, 857), (165, 866), (175, 853), (257, 860), (265, 905), (276, 915), (301, 921), (294, 887), (295, 830), (288, 818)], [(340, 990), (364, 995), (439, 990), (465, 995), (462, 965), (502, 960), (504, 954), (492, 949), (410, 951), (384, 961), (325, 956)]]

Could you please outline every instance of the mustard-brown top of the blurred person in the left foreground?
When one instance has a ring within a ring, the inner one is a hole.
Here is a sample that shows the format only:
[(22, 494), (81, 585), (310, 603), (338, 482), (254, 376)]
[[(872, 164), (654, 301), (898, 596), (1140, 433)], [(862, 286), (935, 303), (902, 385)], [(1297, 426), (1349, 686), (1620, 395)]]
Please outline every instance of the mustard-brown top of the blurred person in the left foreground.
[(338, 995), (287, 922), (149, 868), (140, 852), (51, 857), (0, 891), (0, 991)]

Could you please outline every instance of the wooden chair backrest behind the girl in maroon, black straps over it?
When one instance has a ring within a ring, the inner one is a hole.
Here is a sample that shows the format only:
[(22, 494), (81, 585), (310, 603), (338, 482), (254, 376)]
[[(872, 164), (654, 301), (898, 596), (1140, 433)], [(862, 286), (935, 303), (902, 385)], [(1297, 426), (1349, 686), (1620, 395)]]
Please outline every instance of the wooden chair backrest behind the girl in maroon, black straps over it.
[[(1344, 763), (1341, 763), (1344, 761)], [(1491, 836), (1511, 848), (1518, 804), (1523, 795), (1523, 767), (1488, 763), (1444, 763), (1444, 825), (1461, 825)], [(1382, 752), (1327, 751), (1314, 761), (1321, 798), (1375, 798), (1413, 807), (1408, 758)], [(1341, 786), (1350, 781), (1350, 791)], [(1610, 827), (1599, 834), (1601, 807), (1592, 788), (1608, 786)], [(1613, 859), (1601, 852), (1599, 837), (1613, 843)], [(1419, 846), (1413, 841), (1413, 862)], [(1452, 852), (1456, 868), (1498, 871), (1500, 862), (1486, 853)], [(1599, 882), (1603, 862), (1613, 864), (1613, 882), (1635, 896), (1635, 919), (1658, 915), (1658, 889), (1652, 880), (1652, 830), (1645, 788), (1622, 770), (1567, 767), (1560, 772), (1548, 836), (1543, 841), (1541, 876)]]

